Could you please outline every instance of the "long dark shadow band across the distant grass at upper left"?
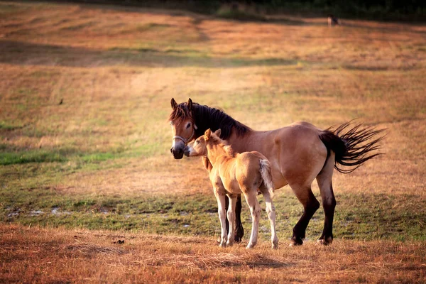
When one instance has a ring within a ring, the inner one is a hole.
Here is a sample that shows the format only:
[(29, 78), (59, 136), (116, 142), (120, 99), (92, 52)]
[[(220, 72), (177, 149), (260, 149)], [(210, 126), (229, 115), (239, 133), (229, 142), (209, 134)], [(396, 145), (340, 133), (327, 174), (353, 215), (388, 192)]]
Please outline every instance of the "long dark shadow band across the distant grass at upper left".
[[(190, 54), (188, 54), (190, 53)], [(186, 54), (186, 55), (185, 55)], [(0, 40), (0, 62), (13, 65), (59, 65), (65, 67), (246, 67), (295, 65), (283, 58), (219, 58), (196, 50), (157, 50), (155, 48), (93, 50)]]

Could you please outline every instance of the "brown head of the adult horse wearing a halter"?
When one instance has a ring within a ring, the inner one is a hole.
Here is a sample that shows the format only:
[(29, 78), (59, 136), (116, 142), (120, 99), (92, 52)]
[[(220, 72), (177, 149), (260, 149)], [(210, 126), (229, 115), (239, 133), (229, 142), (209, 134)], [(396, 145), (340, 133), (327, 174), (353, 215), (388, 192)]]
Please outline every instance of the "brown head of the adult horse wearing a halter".
[(175, 99), (172, 99), (170, 104), (173, 109), (168, 119), (173, 133), (170, 153), (173, 153), (175, 159), (181, 159), (185, 146), (192, 141), (197, 130), (194, 119), (192, 119), (192, 100), (188, 99), (187, 103), (178, 104)]

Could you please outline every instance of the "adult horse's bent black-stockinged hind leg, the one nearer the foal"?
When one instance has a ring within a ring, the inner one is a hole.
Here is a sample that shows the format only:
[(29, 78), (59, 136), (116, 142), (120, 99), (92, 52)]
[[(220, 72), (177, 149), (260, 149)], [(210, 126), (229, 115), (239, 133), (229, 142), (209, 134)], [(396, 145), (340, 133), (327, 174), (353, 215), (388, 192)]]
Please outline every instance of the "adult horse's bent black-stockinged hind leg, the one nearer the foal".
[(297, 199), (302, 203), (305, 211), (299, 221), (293, 228), (293, 237), (290, 240), (290, 246), (300, 246), (305, 239), (306, 227), (310, 219), (320, 207), (320, 202), (315, 198), (310, 186), (290, 185), (295, 192)]

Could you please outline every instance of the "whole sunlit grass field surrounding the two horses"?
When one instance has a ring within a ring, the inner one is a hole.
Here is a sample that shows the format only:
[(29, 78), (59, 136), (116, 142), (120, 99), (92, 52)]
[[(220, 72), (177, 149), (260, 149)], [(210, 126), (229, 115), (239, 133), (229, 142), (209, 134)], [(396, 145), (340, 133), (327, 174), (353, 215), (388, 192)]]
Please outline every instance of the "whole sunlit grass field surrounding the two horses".
[[(426, 26), (342, 21), (1, 1), (0, 282), (424, 283)], [(172, 97), (258, 130), (359, 119), (386, 155), (334, 174), (332, 246), (320, 209), (288, 248), (303, 209), (283, 187), (278, 251), (265, 212), (244, 249), (246, 206), (219, 249), (207, 173), (169, 152)]]

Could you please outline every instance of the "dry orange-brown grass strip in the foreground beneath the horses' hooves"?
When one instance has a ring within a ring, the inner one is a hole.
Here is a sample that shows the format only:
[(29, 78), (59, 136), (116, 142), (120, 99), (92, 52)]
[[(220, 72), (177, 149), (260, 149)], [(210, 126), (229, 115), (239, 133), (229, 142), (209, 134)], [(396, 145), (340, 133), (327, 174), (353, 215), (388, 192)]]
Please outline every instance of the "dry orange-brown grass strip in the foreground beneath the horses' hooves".
[[(422, 283), (424, 243), (220, 249), (212, 238), (1, 225), (2, 282)], [(116, 241), (124, 240), (124, 244)]]

